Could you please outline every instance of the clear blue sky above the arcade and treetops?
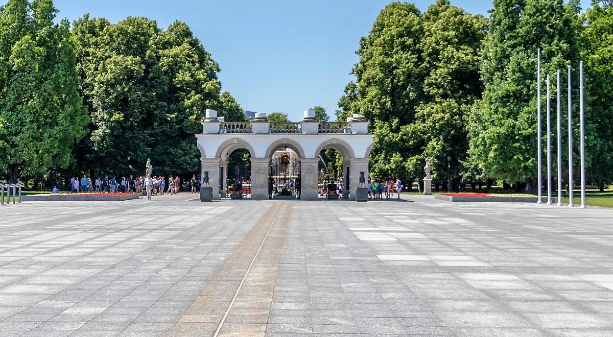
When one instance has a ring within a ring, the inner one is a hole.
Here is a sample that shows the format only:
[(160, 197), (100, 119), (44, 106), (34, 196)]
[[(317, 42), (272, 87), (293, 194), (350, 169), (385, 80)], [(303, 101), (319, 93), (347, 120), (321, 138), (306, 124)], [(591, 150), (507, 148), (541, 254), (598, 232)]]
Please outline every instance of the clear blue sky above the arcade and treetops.
[[(112, 22), (145, 16), (166, 28), (185, 21), (221, 66), (219, 80), (243, 108), (289, 113), (321, 105), (337, 109), (359, 39), (368, 34), (390, 0), (188, 1), (54, 0), (59, 17), (89, 13)], [(414, 1), (421, 10), (435, 0)], [(581, 1), (587, 7), (590, 0)], [(6, 0), (0, 0), (0, 4)], [(489, 0), (452, 0), (471, 13), (487, 15)]]

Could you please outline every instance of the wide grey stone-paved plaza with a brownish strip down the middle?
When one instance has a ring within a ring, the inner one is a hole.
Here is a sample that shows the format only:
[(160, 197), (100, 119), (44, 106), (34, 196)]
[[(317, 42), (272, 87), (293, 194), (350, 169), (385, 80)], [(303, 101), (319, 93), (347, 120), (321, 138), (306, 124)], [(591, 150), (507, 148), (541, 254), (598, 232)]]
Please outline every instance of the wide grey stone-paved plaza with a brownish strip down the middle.
[(613, 336), (613, 210), (2, 206), (0, 336)]

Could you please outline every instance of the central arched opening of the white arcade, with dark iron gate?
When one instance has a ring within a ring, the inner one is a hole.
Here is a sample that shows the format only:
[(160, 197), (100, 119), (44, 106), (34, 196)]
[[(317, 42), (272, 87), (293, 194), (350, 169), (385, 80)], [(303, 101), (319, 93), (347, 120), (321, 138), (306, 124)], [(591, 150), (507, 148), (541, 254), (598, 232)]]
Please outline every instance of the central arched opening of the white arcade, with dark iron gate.
[(271, 151), (268, 194), (272, 199), (300, 199), (300, 150), (283, 145)]

